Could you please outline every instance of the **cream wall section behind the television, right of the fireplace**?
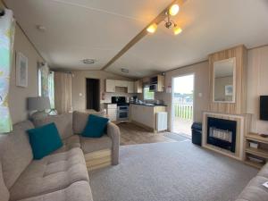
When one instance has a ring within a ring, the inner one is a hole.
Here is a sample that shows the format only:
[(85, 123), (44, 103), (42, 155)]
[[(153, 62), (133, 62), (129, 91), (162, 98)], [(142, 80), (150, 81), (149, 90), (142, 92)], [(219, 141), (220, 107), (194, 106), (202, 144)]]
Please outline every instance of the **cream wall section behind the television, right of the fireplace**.
[(252, 113), (251, 130), (268, 133), (268, 121), (259, 120), (259, 96), (268, 95), (268, 46), (247, 54), (247, 113)]

